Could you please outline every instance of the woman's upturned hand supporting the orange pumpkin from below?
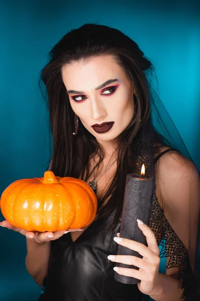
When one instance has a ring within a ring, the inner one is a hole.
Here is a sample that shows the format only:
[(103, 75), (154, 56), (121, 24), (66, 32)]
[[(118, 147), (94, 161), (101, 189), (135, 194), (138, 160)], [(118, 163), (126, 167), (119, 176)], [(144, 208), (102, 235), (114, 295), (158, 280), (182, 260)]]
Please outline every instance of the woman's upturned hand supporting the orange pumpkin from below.
[(13, 230), (15, 232), (19, 232), (20, 234), (24, 235), (26, 238), (30, 239), (31, 241), (37, 242), (39, 244), (42, 244), (42, 243), (50, 241), (50, 240), (58, 239), (63, 234), (66, 234), (68, 232), (83, 230), (83, 228), (79, 228), (79, 229), (66, 229), (64, 231), (55, 231), (55, 232), (28, 232), (24, 229), (16, 228), (16, 227), (12, 226), (6, 220), (0, 222), (0, 226), (5, 227), (10, 230)]

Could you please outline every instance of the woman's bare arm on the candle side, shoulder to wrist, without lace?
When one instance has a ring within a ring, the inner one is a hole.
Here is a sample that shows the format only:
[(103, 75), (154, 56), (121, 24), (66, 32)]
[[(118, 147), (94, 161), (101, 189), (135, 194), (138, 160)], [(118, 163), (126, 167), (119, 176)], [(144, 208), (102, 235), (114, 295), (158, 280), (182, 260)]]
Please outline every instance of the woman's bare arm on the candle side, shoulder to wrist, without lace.
[[(194, 270), (200, 204), (198, 172), (186, 158), (170, 152), (160, 158), (156, 174), (159, 175), (156, 179), (156, 195), (169, 224), (186, 247)], [(156, 301), (167, 298), (180, 300), (182, 279), (177, 280), (177, 274), (178, 268), (174, 267), (166, 269), (166, 275), (159, 274), (157, 290), (150, 296)]]

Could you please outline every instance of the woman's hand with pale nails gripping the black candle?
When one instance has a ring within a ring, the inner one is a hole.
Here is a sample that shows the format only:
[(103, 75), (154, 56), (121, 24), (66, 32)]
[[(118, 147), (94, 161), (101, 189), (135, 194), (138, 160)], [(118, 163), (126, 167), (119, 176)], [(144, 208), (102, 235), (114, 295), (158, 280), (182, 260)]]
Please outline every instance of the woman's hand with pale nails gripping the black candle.
[(137, 251), (143, 258), (128, 255), (109, 255), (107, 258), (114, 262), (137, 266), (139, 270), (122, 267), (114, 267), (113, 269), (120, 275), (141, 280), (140, 283), (137, 284), (139, 290), (149, 295), (153, 293), (158, 285), (159, 248), (151, 229), (139, 220), (137, 220), (137, 223), (139, 229), (146, 237), (147, 247), (134, 240), (120, 237), (114, 237), (114, 241), (126, 248)]

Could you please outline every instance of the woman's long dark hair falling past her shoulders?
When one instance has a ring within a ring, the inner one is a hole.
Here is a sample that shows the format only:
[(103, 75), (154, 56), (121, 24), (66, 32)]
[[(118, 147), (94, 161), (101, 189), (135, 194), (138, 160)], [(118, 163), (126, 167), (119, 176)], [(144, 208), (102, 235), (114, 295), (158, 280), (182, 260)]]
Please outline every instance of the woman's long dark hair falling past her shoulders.
[[(134, 97), (136, 114), (119, 137), (116, 173), (108, 189), (98, 200), (96, 218), (107, 216), (115, 209), (115, 222), (117, 222), (122, 209), (125, 178), (130, 171), (129, 167), (135, 164), (131, 162), (128, 145), (145, 126), (150, 115), (150, 91), (145, 73), (153, 72), (152, 63), (144, 56), (138, 45), (120, 31), (103, 25), (85, 24), (68, 32), (51, 49), (49, 62), (41, 70), (40, 89), (44, 96), (42, 92), (42, 84), (44, 84), (48, 99), (52, 134), (50, 170), (56, 176), (74, 178), (81, 176), (81, 179), (87, 182), (91, 174), (88, 165), (91, 155), (97, 150), (100, 163), (104, 153), (96, 138), (81, 122), (79, 122), (78, 135), (72, 135), (74, 113), (62, 81), (61, 68), (71, 62), (86, 61), (99, 55), (113, 56), (132, 81), (137, 95)], [(156, 130), (154, 130), (154, 140), (164, 144), (162, 136)], [(83, 179), (84, 170), (86, 174)], [(108, 199), (109, 201), (106, 202)]]

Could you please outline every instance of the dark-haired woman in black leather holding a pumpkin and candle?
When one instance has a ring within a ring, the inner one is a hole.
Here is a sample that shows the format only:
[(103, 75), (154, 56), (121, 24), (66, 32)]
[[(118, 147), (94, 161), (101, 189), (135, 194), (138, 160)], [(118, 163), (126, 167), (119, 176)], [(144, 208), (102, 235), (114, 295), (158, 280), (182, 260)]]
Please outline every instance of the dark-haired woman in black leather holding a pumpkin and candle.
[[(26, 236), (26, 268), (43, 284), (40, 300), (176, 301), (190, 300), (197, 289), (198, 172), (152, 127), (151, 70), (131, 39), (95, 24), (67, 33), (50, 52), (41, 73), (53, 142), (49, 169), (87, 182), (98, 211), (93, 223), (70, 233), (30, 233), (3, 221)], [(119, 237), (125, 177), (142, 163), (156, 184), (149, 227), (137, 221), (147, 246)], [(166, 274), (158, 272), (159, 243)], [(118, 244), (142, 259), (116, 255)], [(116, 262), (139, 269), (116, 269)], [(140, 283), (117, 282), (113, 269)]]

